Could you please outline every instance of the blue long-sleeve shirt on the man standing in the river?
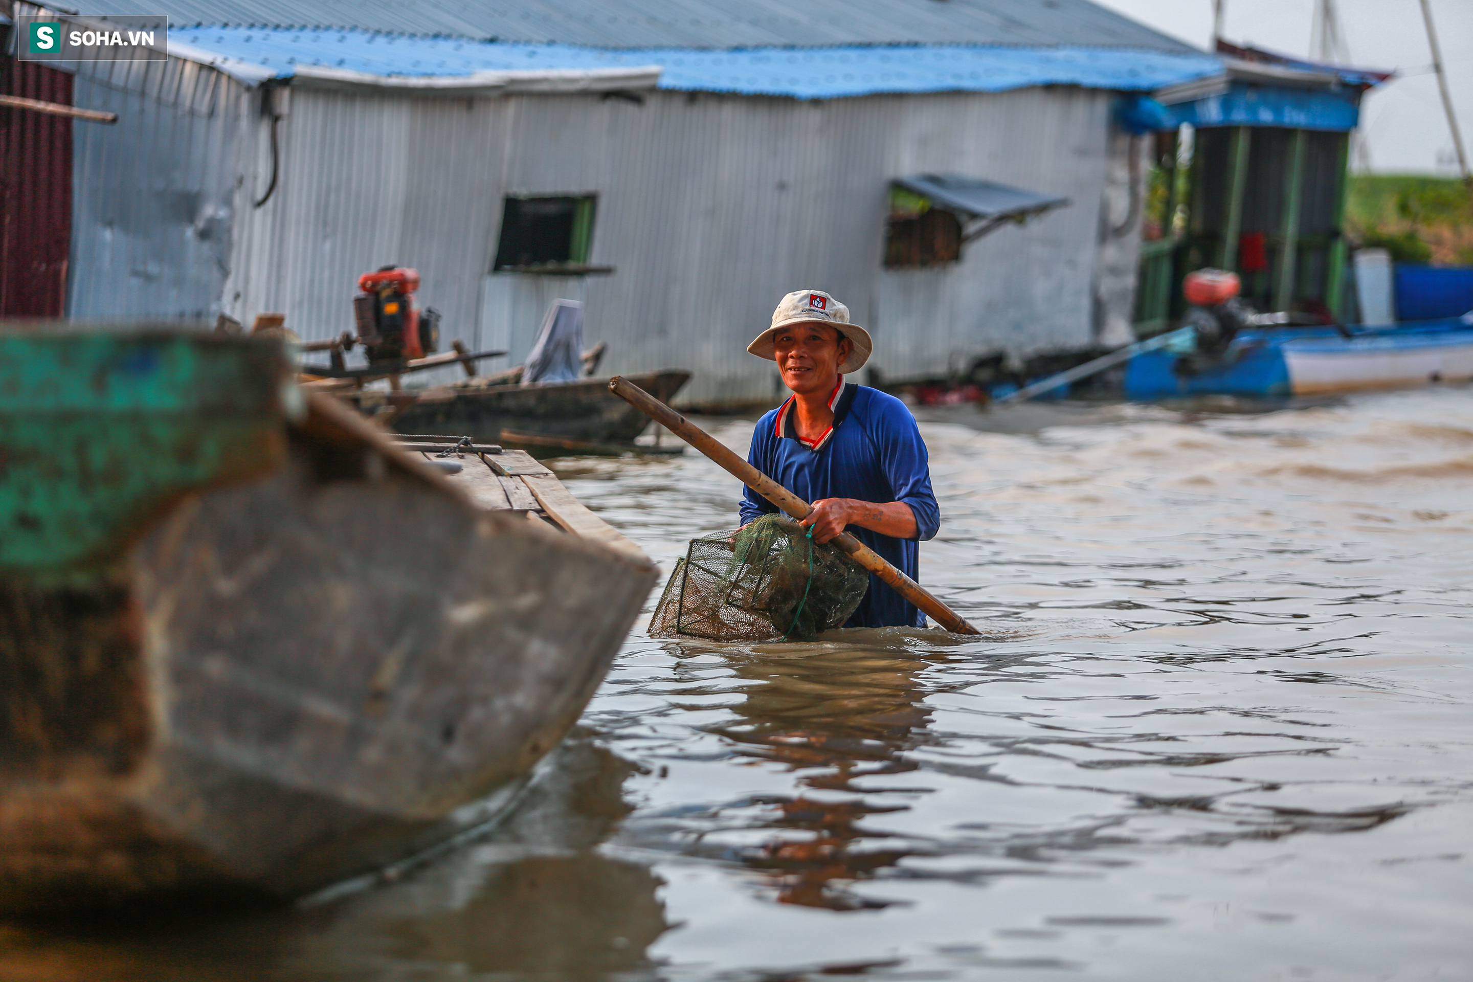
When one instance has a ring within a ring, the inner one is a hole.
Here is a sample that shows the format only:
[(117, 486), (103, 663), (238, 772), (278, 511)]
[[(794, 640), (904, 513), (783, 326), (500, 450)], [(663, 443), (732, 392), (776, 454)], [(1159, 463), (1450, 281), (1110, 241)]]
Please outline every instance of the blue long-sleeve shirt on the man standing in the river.
[[(894, 539), (851, 526), (850, 531), (896, 568), (918, 580), (919, 540), (941, 526), (931, 490), (931, 468), (915, 417), (903, 402), (876, 389), (841, 381), (829, 398), (834, 425), (815, 446), (798, 439), (792, 399), (757, 421), (747, 461), (804, 501), (856, 498), (885, 504), (903, 501), (916, 517), (916, 539)], [(747, 489), (741, 521), (778, 511)], [(924, 626), (925, 615), (875, 574), (846, 627)]]

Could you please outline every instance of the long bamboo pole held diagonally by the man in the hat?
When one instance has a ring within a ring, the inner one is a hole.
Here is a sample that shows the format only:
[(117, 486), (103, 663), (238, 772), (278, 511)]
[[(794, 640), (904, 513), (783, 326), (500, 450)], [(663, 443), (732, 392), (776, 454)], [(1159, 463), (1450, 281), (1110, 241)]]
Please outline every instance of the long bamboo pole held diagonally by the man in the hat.
[[(710, 433), (706, 433), (694, 423), (686, 421), (679, 412), (664, 405), (648, 392), (633, 384), (627, 378), (614, 375), (608, 380), (608, 390), (616, 396), (635, 406), (647, 417), (663, 425), (670, 433), (676, 434), (697, 451), (711, 458), (723, 470), (731, 473), (736, 480), (739, 480), (747, 487), (753, 489), (773, 505), (788, 512), (794, 518), (807, 518), (809, 512), (813, 511), (813, 505), (803, 501), (787, 487), (772, 480), (756, 467), (741, 459), (729, 446), (720, 443)], [(925, 611), (937, 624), (952, 632), (953, 635), (980, 635), (981, 632), (966, 623), (966, 620), (941, 602), (940, 598), (932, 595), (924, 586), (912, 580), (909, 576), (897, 570), (896, 567), (885, 562), (884, 557), (862, 543), (859, 539), (847, 531), (837, 534), (829, 540), (834, 546), (848, 554), (854, 562), (860, 564), (875, 576), (878, 576), (887, 586), (890, 586), (896, 593), (906, 598), (922, 611)]]

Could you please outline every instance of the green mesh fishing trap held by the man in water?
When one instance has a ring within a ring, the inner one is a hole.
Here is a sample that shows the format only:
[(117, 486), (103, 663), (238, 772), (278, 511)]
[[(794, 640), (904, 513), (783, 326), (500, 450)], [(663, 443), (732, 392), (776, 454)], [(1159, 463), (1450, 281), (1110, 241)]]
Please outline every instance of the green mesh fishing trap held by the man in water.
[(650, 618), (653, 637), (809, 640), (840, 627), (869, 574), (818, 545), (792, 518), (763, 515), (735, 531), (691, 539)]

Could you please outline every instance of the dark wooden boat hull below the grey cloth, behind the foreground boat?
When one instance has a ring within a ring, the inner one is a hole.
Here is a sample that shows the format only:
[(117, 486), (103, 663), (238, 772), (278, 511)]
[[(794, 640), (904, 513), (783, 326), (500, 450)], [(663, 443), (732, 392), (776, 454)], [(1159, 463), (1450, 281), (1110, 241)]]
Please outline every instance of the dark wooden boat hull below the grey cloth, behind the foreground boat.
[[(630, 380), (667, 402), (689, 377), (686, 371), (661, 371), (630, 375)], [(415, 396), (393, 417), (393, 428), (399, 433), (454, 433), (507, 446), (518, 445), (517, 434), (627, 446), (650, 424), (648, 417), (608, 392), (607, 378), (483, 389), (443, 386)], [(387, 393), (362, 392), (348, 398), (367, 411), (387, 402)]]

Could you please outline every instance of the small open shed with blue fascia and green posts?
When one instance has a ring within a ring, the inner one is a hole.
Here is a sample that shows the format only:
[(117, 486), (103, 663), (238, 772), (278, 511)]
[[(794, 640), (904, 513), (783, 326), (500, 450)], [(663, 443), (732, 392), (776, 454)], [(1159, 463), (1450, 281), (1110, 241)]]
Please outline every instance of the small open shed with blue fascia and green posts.
[[(1351, 131), (1363, 94), (1391, 74), (1224, 41), (1218, 54), (1223, 75), (1155, 93), (1164, 109), (1145, 124), (1158, 131), (1167, 218), (1142, 247), (1137, 331), (1170, 327), (1181, 277), (1202, 266), (1236, 271), (1261, 311), (1343, 318)], [(1177, 174), (1189, 130), (1190, 168)]]

